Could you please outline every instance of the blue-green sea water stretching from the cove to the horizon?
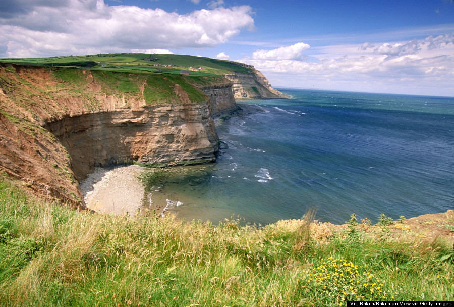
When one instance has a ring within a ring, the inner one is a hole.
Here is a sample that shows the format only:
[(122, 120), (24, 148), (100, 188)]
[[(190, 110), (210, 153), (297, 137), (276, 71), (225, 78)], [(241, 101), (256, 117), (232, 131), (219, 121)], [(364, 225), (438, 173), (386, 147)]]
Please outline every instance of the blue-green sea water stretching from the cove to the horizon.
[(322, 222), (375, 223), (454, 209), (454, 98), (281, 91), (218, 126), (215, 164), (152, 192), (164, 215), (264, 225), (315, 208)]

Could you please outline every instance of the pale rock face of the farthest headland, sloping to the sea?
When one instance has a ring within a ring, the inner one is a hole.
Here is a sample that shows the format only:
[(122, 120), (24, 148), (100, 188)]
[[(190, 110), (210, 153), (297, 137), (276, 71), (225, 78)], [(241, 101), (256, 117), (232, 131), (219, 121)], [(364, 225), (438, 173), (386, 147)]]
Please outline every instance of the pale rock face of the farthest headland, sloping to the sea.
[(248, 98), (277, 98), (282, 93), (272, 88), (265, 76), (253, 66), (243, 66), (252, 69), (251, 73), (229, 73), (225, 78), (232, 82), (235, 99)]

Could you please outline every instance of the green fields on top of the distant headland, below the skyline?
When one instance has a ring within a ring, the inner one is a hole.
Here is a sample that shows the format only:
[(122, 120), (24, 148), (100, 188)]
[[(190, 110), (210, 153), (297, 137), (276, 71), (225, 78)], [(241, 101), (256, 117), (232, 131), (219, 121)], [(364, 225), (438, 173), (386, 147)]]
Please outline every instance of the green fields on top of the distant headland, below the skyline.
[[(152, 57), (151, 60), (145, 60), (150, 57)], [(180, 70), (189, 70), (190, 67), (192, 67), (197, 71), (191, 71), (191, 75), (202, 76), (223, 75), (230, 72), (250, 73), (252, 71), (251, 68), (232, 61), (186, 55), (161, 54), (122, 53), (50, 58), (5, 58), (0, 59), (0, 62), (22, 65), (80, 67), (109, 71), (126, 71), (135, 73), (158, 72), (168, 74), (180, 74)], [(172, 65), (172, 67), (164, 67), (163, 65)], [(201, 67), (203, 69), (200, 69)]]

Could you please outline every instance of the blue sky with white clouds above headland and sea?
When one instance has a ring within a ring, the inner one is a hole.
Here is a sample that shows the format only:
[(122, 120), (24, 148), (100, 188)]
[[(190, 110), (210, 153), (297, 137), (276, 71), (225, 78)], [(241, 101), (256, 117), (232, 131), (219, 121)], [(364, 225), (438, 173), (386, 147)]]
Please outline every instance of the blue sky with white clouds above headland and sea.
[(0, 58), (175, 53), (273, 87), (454, 97), (453, 0), (0, 0)]

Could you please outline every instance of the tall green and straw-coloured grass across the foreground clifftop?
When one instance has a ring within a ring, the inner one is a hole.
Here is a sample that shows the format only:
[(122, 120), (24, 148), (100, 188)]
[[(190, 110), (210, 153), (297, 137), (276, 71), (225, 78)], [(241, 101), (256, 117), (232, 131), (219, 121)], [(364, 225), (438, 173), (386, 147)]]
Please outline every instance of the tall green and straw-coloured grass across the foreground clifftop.
[(346, 305), (356, 296), (454, 299), (452, 246), (366, 233), (353, 240), (310, 220), (309, 214), (304, 223), (257, 228), (237, 220), (186, 223), (147, 212), (98, 215), (38, 200), (1, 179), (0, 305), (325, 306)]

